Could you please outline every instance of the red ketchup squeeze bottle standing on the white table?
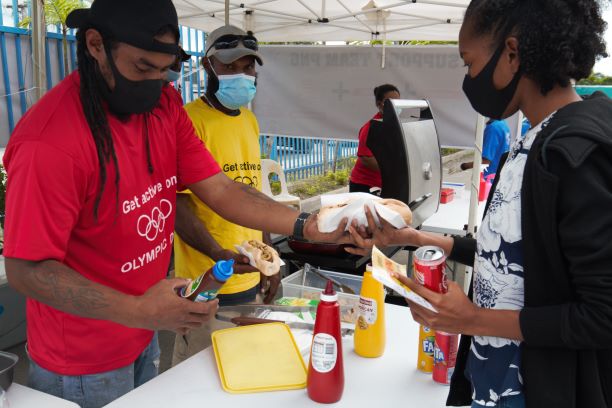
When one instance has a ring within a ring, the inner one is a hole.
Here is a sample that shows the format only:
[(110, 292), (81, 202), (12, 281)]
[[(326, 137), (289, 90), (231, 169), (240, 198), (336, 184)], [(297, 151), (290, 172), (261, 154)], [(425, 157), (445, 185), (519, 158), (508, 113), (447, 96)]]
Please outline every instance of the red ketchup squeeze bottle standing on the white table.
[(317, 307), (307, 389), (311, 400), (328, 404), (340, 401), (344, 391), (340, 305), (331, 281)]

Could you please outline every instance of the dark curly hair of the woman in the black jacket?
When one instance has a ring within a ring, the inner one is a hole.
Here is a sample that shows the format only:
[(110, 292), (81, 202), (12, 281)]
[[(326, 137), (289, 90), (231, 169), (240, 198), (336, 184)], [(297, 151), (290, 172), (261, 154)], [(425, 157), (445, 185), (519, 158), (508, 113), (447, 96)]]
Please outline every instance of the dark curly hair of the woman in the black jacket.
[(473, 35), (490, 35), (493, 48), (516, 37), (523, 74), (546, 95), (588, 77), (607, 56), (601, 6), (598, 0), (472, 0), (464, 24)]

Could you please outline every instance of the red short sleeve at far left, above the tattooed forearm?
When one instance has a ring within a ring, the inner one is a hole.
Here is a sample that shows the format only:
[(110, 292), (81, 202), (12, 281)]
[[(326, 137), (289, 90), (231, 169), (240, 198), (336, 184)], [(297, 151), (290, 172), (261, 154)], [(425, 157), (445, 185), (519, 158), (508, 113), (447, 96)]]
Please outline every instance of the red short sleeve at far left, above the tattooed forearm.
[(84, 205), (87, 177), (64, 152), (41, 142), (9, 146), (4, 256), (63, 261)]

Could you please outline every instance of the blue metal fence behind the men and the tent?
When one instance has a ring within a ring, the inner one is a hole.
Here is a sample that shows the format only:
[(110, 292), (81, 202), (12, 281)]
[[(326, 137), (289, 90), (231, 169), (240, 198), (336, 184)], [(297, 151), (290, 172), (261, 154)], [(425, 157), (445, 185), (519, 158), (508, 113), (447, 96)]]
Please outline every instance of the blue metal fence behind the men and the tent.
[[(32, 105), (31, 92), (32, 42), (30, 31), (19, 28), (28, 15), (24, 0), (0, 0), (0, 147), (6, 146), (15, 125)], [(70, 30), (68, 42), (68, 72), (64, 69), (64, 49), (60, 27), (47, 29), (45, 42), (47, 89), (51, 89), (76, 69), (76, 37)], [(200, 65), (206, 42), (203, 31), (181, 27), (183, 49), (192, 57), (183, 65), (179, 88), (185, 103), (199, 98), (205, 88), (206, 76)], [(262, 156), (280, 162), (288, 180), (300, 180), (346, 167), (348, 159), (357, 154), (357, 142), (262, 135)]]

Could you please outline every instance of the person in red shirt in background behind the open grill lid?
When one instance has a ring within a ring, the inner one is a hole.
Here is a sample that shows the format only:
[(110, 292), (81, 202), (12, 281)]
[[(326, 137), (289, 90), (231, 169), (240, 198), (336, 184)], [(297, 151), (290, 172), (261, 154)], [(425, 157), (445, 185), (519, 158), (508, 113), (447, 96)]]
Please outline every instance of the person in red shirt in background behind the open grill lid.
[[(371, 120), (382, 120), (382, 111), (387, 99), (399, 99), (399, 90), (390, 84), (384, 84), (374, 88), (374, 98), (378, 112)], [(372, 188), (382, 188), (382, 179), (378, 162), (372, 151), (368, 148), (368, 133), (370, 133), (370, 121), (359, 130), (359, 146), (357, 147), (357, 162), (351, 172), (349, 191), (369, 193)]]

